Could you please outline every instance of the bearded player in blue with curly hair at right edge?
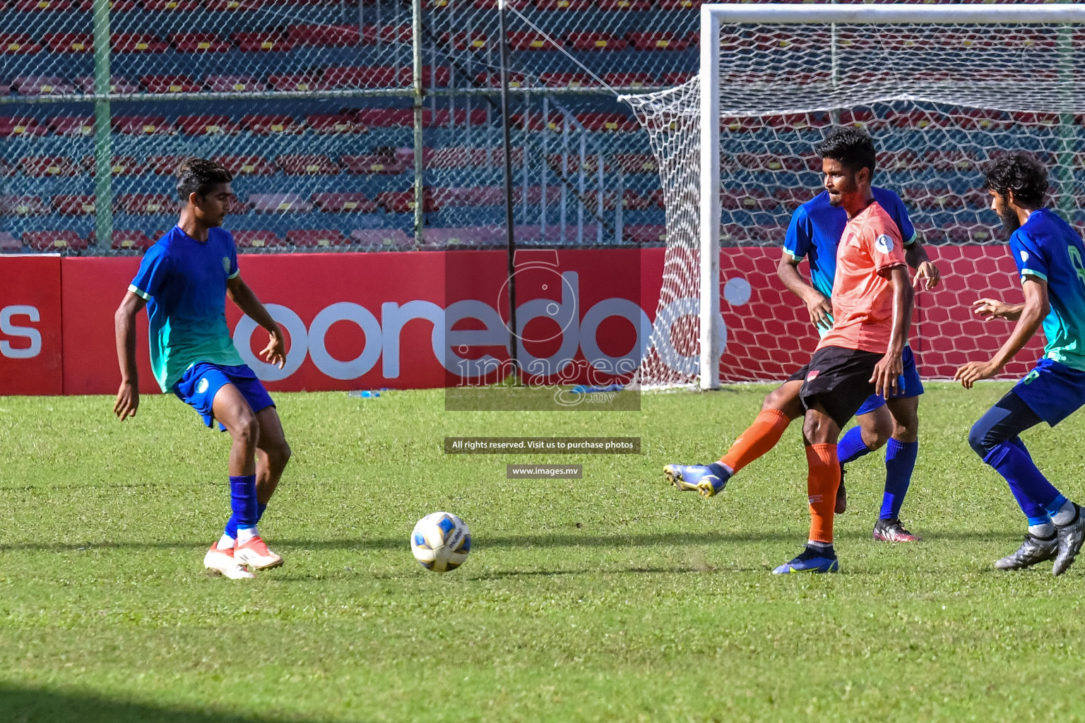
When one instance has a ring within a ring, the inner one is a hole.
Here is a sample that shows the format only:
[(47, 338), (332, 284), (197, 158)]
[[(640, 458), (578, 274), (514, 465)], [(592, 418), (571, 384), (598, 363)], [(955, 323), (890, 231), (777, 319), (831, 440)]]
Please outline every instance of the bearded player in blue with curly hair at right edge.
[(1041, 422), (1050, 426), (1085, 404), (1085, 245), (1055, 211), (1044, 207), (1047, 170), (1035, 157), (1017, 153), (986, 170), (991, 207), (1010, 232), (1010, 253), (1021, 275), (1024, 304), (979, 299), (985, 319), (1017, 321), (1010, 337), (985, 362), (969, 362), (955, 378), (966, 389), (1001, 371), (1043, 325), (1047, 346), (1036, 366), (972, 427), (969, 444), (1006, 478), (1029, 531), (1021, 546), (995, 563), (1000, 570), (1055, 559), (1061, 574), (1085, 539), (1081, 507), (1036, 468), (1019, 436)]

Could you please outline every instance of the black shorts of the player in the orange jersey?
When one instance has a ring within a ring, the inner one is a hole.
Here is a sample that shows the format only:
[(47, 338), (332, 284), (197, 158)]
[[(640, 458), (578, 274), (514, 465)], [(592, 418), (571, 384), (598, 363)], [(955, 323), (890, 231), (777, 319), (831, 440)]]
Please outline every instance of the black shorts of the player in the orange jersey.
[(821, 347), (808, 364), (791, 375), (791, 379), (803, 379), (799, 391), (803, 409), (820, 404), (837, 426), (843, 427), (875, 392), (870, 377), (884, 356), (860, 349)]

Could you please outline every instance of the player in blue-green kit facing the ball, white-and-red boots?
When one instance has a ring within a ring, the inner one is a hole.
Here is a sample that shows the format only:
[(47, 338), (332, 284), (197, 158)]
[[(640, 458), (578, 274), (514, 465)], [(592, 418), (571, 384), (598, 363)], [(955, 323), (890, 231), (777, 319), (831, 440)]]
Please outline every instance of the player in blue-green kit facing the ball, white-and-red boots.
[[(120, 389), (114, 413), (122, 421), (139, 409), (136, 314), (146, 306), (151, 369), (164, 392), (191, 405), (210, 427), (230, 432), (230, 503), (226, 531), (204, 556), (204, 566), (232, 579), (282, 565), (256, 524), (290, 460), (275, 402), (245, 365), (226, 324), (226, 297), (269, 334), (266, 361), (284, 363), (279, 325), (241, 280), (233, 236), (220, 227), (233, 192), (230, 171), (203, 158), (177, 170), (186, 204), (177, 225), (143, 256), (115, 314)], [(245, 569), (247, 566), (250, 569)]]

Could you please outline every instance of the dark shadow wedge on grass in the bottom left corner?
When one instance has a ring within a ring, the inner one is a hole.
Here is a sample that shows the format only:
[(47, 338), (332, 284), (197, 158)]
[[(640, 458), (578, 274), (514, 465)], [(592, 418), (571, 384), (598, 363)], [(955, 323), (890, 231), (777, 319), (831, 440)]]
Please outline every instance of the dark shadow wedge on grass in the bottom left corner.
[(296, 718), (215, 713), (11, 684), (0, 685), (0, 720), (4, 723), (286, 723), (288, 720), (305, 723)]

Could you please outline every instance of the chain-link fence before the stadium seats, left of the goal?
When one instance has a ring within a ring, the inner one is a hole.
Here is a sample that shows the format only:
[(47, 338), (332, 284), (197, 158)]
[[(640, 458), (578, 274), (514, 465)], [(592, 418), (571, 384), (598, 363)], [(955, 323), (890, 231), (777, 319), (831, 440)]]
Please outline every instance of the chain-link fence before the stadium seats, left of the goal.
[[(614, 89), (695, 69), (697, 4), (510, 7), (518, 243), (659, 243), (659, 176)], [(176, 221), (173, 172), (189, 155), (234, 172), (229, 227), (247, 250), (505, 242), (493, 0), (0, 12), (4, 251), (139, 253)]]

